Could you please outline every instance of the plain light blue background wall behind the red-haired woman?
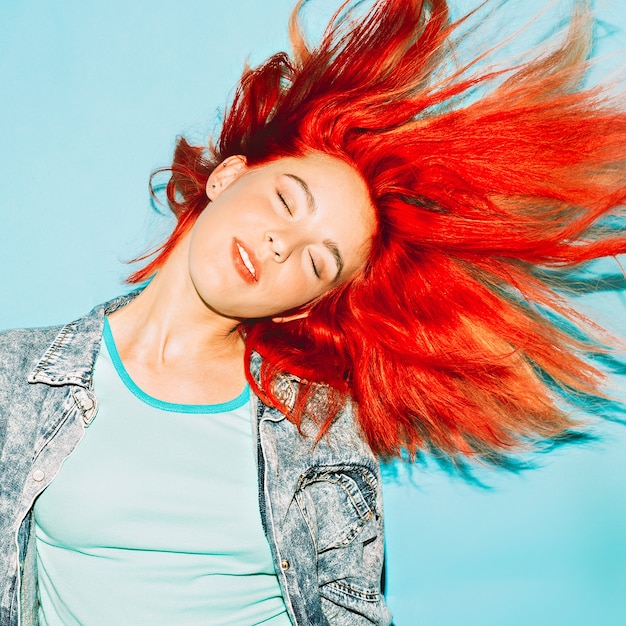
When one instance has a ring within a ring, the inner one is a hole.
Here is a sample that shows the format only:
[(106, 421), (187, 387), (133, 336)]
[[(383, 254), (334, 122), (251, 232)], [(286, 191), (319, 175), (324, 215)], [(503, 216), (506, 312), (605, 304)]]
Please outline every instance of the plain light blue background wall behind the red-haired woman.
[[(248, 55), (284, 48), (291, 4), (0, 3), (0, 328), (65, 322), (125, 289), (121, 261), (171, 225), (150, 208), (150, 171), (169, 163), (176, 135), (204, 141)], [(336, 3), (317, 4), (327, 17)], [(498, 27), (547, 4), (509, 2)], [(612, 76), (626, 49), (623, 0), (598, 2), (597, 16), (595, 71)], [(623, 293), (580, 305), (626, 331)], [(392, 468), (396, 624), (624, 626), (625, 431), (599, 426), (598, 443), (519, 476), (483, 471), (489, 490), (430, 465)]]

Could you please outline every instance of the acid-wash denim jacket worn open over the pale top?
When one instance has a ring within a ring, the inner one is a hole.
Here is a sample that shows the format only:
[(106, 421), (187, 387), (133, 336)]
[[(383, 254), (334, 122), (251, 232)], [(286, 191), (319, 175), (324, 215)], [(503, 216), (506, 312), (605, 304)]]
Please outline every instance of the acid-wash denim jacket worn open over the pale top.
[[(0, 625), (37, 624), (32, 508), (96, 419), (92, 372), (103, 317), (133, 294), (63, 328), (0, 333)], [(260, 359), (251, 371), (258, 374)], [(295, 395), (295, 381), (282, 392)], [(349, 410), (315, 443), (253, 396), (259, 508), (294, 624), (388, 625), (377, 459)], [(305, 424), (313, 434), (311, 424)]]

